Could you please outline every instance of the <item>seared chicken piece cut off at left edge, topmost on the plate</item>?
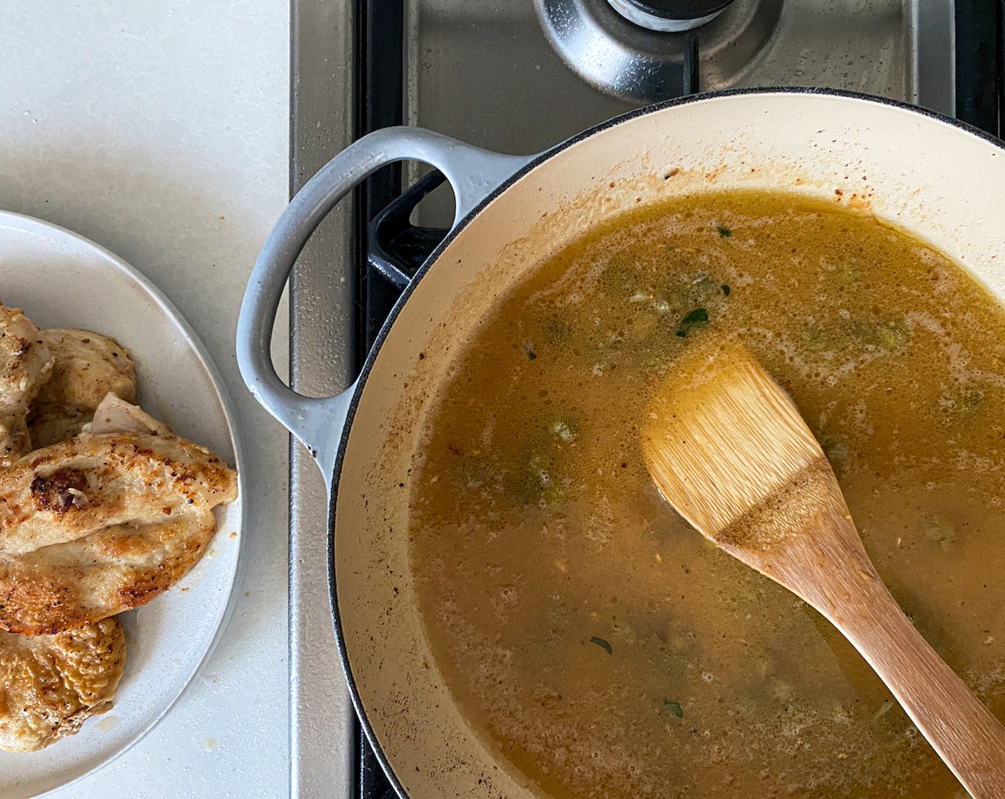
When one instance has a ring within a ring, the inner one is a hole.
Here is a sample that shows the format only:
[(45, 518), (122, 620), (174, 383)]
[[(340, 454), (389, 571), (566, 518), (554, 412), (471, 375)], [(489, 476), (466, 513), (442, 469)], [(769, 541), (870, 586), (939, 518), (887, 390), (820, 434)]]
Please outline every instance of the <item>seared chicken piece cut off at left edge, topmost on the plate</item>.
[(0, 305), (0, 466), (30, 448), (26, 417), (52, 372), (52, 355), (38, 328)]

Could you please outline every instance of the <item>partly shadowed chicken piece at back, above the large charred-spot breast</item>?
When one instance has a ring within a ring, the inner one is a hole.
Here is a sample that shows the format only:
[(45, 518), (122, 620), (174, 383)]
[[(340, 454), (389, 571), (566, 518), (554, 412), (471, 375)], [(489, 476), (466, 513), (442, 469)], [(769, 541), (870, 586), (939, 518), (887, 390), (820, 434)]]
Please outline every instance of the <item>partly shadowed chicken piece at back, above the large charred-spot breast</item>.
[(52, 377), (31, 405), (31, 442), (44, 447), (72, 438), (114, 393), (136, 401), (136, 365), (115, 339), (85, 330), (52, 328), (40, 338), (55, 359)]

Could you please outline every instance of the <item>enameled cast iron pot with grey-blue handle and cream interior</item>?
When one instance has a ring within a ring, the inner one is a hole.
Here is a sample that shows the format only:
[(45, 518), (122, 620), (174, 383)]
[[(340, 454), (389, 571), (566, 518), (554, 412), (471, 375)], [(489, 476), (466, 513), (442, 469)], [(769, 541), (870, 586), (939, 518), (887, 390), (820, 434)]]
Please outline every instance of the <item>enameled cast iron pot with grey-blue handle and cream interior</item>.
[[(402, 796), (532, 797), (461, 716), (430, 651), (409, 570), (409, 469), (466, 342), (516, 282), (601, 220), (690, 192), (766, 189), (869, 208), (1005, 299), (1005, 145), (938, 115), (812, 89), (728, 91), (628, 114), (533, 158), (408, 128), (336, 156), (262, 249), (241, 308), (248, 387), (330, 485), (330, 585), (353, 701)], [(359, 379), (328, 399), (276, 377), (279, 294), (314, 229), (384, 164), (441, 170), (456, 218), (385, 324)]]

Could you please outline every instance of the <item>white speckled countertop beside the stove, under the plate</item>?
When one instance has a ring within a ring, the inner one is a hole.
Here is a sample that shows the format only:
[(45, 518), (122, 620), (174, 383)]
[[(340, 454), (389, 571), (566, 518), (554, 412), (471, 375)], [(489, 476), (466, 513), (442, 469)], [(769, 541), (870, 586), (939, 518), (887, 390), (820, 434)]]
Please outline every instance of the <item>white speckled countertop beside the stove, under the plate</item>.
[(168, 295), (223, 373), (251, 487), (213, 657), (146, 739), (52, 795), (285, 795), (287, 439), (244, 389), (233, 342), (286, 201), (288, 0), (13, 0), (3, 13), (0, 208), (93, 239)]

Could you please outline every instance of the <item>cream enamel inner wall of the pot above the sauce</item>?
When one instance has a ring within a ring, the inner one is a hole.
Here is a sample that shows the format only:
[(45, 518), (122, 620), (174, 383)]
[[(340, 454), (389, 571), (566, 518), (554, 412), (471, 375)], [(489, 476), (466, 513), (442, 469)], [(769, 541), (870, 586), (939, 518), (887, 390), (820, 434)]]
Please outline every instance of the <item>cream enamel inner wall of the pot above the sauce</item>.
[(496, 197), (395, 322), (367, 379), (338, 488), (348, 657), (379, 745), (411, 797), (536, 795), (458, 713), (416, 608), (410, 470), (440, 386), (496, 301), (570, 239), (639, 203), (732, 188), (869, 208), (1005, 297), (1005, 151), (890, 105), (790, 92), (698, 99), (578, 141)]

